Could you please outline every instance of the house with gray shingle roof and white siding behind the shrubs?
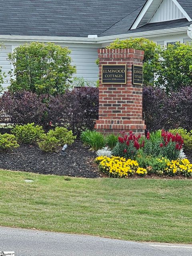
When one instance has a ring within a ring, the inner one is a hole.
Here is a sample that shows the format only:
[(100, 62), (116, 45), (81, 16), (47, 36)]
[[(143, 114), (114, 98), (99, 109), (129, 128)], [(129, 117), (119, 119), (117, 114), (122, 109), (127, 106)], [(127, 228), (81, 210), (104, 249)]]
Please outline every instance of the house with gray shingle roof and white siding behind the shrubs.
[[(116, 38), (145, 37), (161, 46), (191, 42), (192, 0), (0, 0), (0, 66), (26, 42), (54, 42), (72, 50), (78, 77), (98, 79), (97, 49)], [(6, 78), (4, 86), (9, 84)]]

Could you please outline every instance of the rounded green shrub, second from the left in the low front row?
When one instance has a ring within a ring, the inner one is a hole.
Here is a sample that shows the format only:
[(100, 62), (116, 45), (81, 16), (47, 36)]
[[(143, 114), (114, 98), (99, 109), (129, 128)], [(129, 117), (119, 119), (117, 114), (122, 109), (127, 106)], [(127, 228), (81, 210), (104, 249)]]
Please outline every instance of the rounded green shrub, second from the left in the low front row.
[(12, 133), (20, 143), (35, 143), (44, 134), (42, 126), (31, 124), (16, 125)]

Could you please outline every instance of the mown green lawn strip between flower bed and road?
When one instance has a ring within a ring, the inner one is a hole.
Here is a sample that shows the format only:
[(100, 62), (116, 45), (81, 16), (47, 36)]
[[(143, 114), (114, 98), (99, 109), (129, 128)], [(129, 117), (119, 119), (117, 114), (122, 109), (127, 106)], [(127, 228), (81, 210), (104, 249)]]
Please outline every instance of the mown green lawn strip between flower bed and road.
[(192, 180), (70, 180), (0, 171), (1, 226), (192, 243), (191, 203)]

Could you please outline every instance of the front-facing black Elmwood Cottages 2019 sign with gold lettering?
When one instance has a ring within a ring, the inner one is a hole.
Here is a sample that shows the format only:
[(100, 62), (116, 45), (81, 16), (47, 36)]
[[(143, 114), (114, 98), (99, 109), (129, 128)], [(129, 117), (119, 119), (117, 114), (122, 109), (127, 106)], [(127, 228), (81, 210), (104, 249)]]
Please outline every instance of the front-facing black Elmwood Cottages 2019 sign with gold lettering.
[(102, 84), (126, 84), (127, 66), (120, 65), (102, 65)]

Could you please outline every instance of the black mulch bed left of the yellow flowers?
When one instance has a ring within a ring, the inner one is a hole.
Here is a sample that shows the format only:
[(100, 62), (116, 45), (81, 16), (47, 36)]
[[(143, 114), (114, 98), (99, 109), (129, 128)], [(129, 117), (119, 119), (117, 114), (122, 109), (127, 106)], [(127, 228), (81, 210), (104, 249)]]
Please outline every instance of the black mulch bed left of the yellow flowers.
[(101, 174), (94, 164), (95, 157), (96, 154), (78, 140), (67, 148), (65, 156), (44, 153), (35, 145), (21, 145), (13, 152), (0, 154), (0, 169), (97, 178)]

